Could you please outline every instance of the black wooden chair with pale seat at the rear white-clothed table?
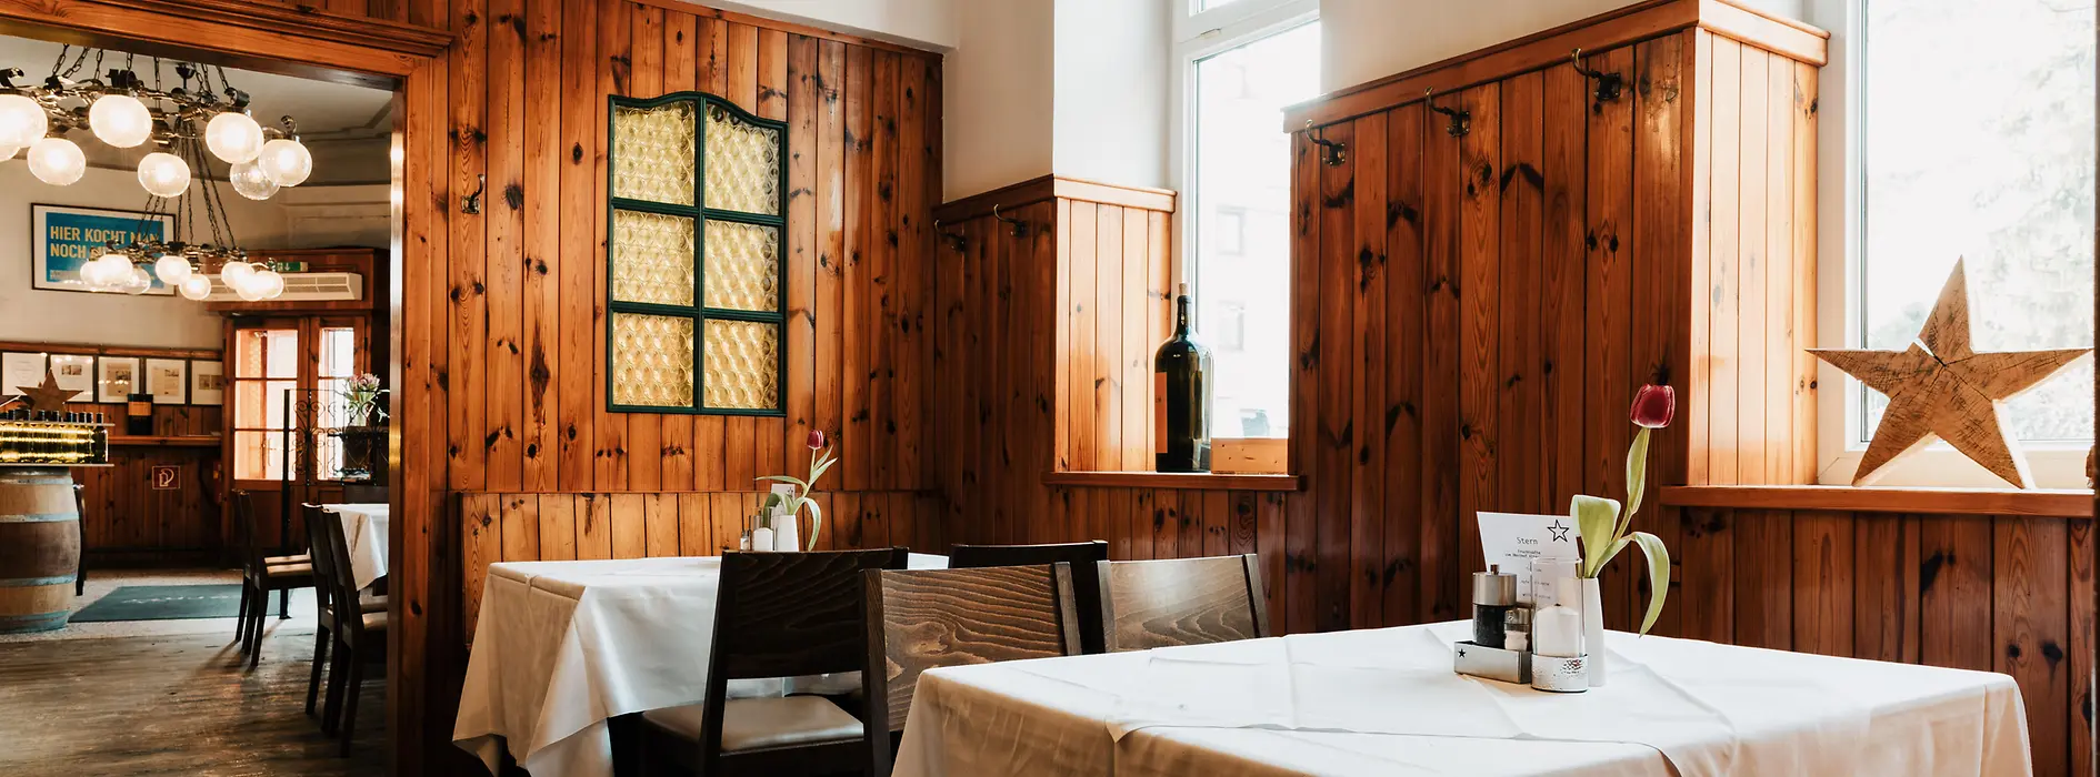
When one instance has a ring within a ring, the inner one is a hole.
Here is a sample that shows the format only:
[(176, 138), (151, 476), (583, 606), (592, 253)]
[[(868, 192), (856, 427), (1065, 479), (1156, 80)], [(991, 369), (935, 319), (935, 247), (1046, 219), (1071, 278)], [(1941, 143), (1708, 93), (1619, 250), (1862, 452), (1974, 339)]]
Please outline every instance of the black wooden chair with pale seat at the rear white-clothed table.
[(905, 569), (907, 559), (905, 548), (724, 552), (708, 695), (643, 712), (643, 773), (865, 773), (882, 720), (874, 695), (863, 693), (855, 714), (819, 695), (729, 699), (729, 680), (859, 672), (867, 659), (861, 573)]

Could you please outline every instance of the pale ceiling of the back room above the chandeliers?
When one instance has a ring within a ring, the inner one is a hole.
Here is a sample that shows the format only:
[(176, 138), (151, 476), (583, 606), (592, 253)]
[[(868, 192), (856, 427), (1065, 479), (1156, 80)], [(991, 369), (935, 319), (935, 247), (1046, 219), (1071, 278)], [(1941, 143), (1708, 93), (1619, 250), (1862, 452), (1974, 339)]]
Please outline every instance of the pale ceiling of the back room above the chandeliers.
[[(0, 36), (0, 67), (21, 67), (27, 76), (19, 78), (17, 84), (42, 82), (44, 76), (50, 76), (59, 48), (52, 42)], [(78, 46), (67, 52), (67, 63), (78, 52)], [(124, 67), (124, 57), (118, 50), (105, 52), (103, 69)], [(172, 59), (160, 61), (164, 88), (181, 84), (174, 65)], [(132, 69), (147, 84), (153, 84), (153, 59), (141, 55), (132, 59)], [(84, 80), (92, 71), (94, 55), (88, 55), (86, 65), (71, 78)], [(227, 67), (225, 74), (229, 84), (252, 97), (248, 107), (256, 122), (275, 126), (281, 116), (292, 116), (298, 122), (300, 141), (313, 149), (315, 158), (313, 178), (307, 185), (388, 178), (386, 145), (393, 130), (393, 92), (235, 67)], [(212, 78), (216, 82), (218, 74), (214, 71)], [(145, 149), (113, 149), (92, 141), (80, 143), (80, 147), (88, 153), (88, 164), (111, 168), (132, 168), (147, 153)]]

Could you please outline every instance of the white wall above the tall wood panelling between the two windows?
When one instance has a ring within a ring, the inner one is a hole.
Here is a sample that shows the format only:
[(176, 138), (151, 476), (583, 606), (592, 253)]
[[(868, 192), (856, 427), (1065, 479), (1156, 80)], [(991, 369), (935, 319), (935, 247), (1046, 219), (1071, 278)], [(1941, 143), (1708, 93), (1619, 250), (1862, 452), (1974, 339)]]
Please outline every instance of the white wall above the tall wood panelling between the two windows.
[[(1321, 0), (1321, 90), (1363, 84), (1636, 0)], [(1802, 19), (1802, 0), (1741, 0)]]

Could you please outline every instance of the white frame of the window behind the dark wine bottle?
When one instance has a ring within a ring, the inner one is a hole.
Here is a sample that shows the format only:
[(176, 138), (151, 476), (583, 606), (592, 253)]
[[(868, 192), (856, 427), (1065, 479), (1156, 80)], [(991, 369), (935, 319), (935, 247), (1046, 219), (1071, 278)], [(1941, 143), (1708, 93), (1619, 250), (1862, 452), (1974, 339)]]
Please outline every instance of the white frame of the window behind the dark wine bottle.
[[(1195, 271), (1197, 225), (1189, 214), (1197, 212), (1197, 164), (1195, 164), (1195, 113), (1197, 92), (1195, 63), (1256, 40), (1275, 36), (1319, 21), (1319, 0), (1233, 0), (1224, 6), (1195, 13), (1197, 0), (1170, 0), (1174, 6), (1174, 84), (1168, 99), (1176, 109), (1168, 118), (1168, 187), (1180, 191), (1180, 208), (1174, 208), (1174, 281), (1189, 284), (1191, 296), (1201, 309), (1203, 288)], [(1325, 61), (1325, 59), (1323, 59)], [(1281, 120), (1279, 120), (1281, 122)], [(1283, 124), (1277, 124), (1283, 132)], [(1294, 426), (1285, 433), (1296, 433)], [(1212, 437), (1235, 439), (1235, 437)]]

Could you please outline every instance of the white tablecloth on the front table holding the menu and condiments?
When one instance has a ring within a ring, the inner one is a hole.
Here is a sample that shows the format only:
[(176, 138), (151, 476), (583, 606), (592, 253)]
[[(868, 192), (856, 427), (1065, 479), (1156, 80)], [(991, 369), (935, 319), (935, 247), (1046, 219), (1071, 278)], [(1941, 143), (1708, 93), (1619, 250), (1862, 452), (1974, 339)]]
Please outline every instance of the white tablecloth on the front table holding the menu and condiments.
[(922, 674), (897, 777), (2029, 775), (2010, 676), (1606, 636), (1558, 695), (1451, 672), (1470, 624)]

